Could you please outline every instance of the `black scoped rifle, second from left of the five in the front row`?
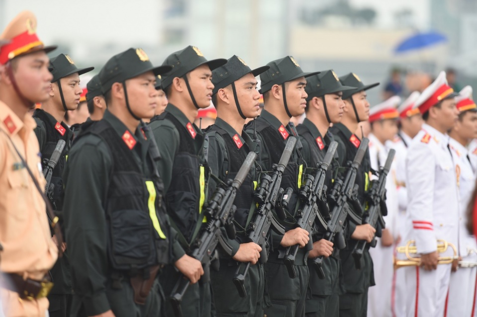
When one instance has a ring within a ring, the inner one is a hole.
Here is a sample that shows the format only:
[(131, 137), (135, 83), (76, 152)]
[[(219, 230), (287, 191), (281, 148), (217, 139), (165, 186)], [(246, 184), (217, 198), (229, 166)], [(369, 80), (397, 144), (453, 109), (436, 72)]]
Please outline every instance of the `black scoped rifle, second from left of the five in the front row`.
[[(262, 264), (266, 263), (268, 259), (266, 242), (270, 226), (276, 233), (281, 235), (285, 234), (285, 228), (277, 222), (272, 211), (275, 209), (275, 212), (280, 219), (284, 220), (286, 218), (285, 211), (281, 206), (278, 206), (278, 204), (281, 204), (284, 199), (286, 201), (291, 193), (288, 190), (287, 192), (284, 192), (280, 185), (282, 182), (283, 171), (292, 156), (296, 144), (297, 139), (295, 137), (288, 138), (287, 145), (285, 146), (280, 161), (278, 164), (272, 165), (272, 172), (269, 175), (262, 174), (260, 176), (260, 185), (255, 191), (254, 196), (255, 201), (258, 203), (258, 207), (255, 210), (255, 218), (249, 226), (248, 240), (255, 242), (262, 248), (260, 251), (260, 257), (258, 258), (259, 262)], [(240, 297), (247, 296), (244, 283), (249, 267), (250, 262), (240, 263), (235, 272), (233, 281)]]

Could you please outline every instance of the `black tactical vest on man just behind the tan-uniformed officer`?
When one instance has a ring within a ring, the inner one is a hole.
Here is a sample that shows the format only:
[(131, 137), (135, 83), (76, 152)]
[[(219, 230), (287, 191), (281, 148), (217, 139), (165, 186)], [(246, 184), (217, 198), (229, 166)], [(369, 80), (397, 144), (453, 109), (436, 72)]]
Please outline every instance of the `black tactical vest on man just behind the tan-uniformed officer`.
[(33, 117), (43, 121), (45, 123), (45, 128), (46, 128), (46, 143), (41, 151), (42, 168), (45, 168), (45, 166), (48, 164), (48, 161), (50, 160), (51, 155), (55, 151), (58, 141), (60, 140), (66, 141), (65, 148), (63, 149), (60, 159), (58, 160), (58, 163), (53, 169), (53, 173), (51, 177), (51, 184), (54, 185), (53, 195), (52, 195), (53, 201), (51, 203), (54, 210), (61, 211), (63, 209), (63, 199), (65, 196), (62, 175), (63, 175), (63, 169), (65, 168), (66, 157), (68, 155), (68, 152), (70, 151), (71, 140), (67, 139), (67, 133), (65, 133), (65, 135), (62, 136), (60, 133), (58, 133), (57, 130), (55, 130), (54, 127), (51, 126), (50, 119), (48, 118), (45, 111), (41, 109), (37, 109), (35, 110)]

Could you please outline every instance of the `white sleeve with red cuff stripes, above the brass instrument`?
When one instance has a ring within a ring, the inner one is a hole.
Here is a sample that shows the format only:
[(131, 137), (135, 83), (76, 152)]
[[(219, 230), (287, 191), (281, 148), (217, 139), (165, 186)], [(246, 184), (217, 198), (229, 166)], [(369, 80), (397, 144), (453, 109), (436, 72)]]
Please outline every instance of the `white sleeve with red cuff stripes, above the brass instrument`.
[(418, 253), (436, 250), (433, 229), (433, 199), (436, 158), (429, 145), (418, 144), (407, 152), (406, 177), (408, 189), (407, 213), (412, 220), (412, 237)]

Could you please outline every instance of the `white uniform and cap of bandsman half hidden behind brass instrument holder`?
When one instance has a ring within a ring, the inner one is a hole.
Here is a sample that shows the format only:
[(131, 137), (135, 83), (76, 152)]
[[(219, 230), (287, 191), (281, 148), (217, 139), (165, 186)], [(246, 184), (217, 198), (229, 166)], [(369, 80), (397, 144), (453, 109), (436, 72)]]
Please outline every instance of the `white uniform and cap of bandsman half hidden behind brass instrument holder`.
[[(412, 92), (404, 102), (397, 108), (399, 118), (412, 117), (419, 114), (419, 109), (413, 108), (414, 103), (419, 97), (419, 91)], [(406, 234), (406, 209), (407, 209), (407, 187), (406, 187), (406, 155), (407, 148), (411, 145), (412, 138), (403, 131), (399, 131), (397, 136), (388, 146), (396, 150), (396, 186), (397, 186), (397, 201), (399, 206), (399, 213), (397, 217), (398, 231), (400, 242), (397, 246), (402, 246), (406, 243), (404, 240)], [(398, 256), (395, 253), (395, 256)], [(406, 295), (407, 286), (405, 281), (404, 270), (396, 270), (394, 272), (394, 296), (392, 297), (391, 308), (394, 316), (405, 316), (406, 312)]]

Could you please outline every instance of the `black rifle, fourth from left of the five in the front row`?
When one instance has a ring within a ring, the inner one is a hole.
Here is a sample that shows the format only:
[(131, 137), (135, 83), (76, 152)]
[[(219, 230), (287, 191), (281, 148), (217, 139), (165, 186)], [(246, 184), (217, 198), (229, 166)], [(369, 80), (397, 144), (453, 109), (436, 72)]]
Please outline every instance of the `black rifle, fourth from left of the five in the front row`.
[[(350, 217), (356, 224), (361, 224), (362, 222), (361, 218), (353, 212), (349, 205), (352, 205), (355, 210), (361, 209), (356, 197), (358, 185), (355, 184), (355, 181), (356, 175), (358, 174), (358, 168), (366, 154), (368, 143), (369, 140), (363, 138), (353, 162), (348, 162), (348, 165), (350, 166), (344, 179), (335, 180), (330, 195), (328, 196), (333, 204), (333, 209), (331, 211), (331, 219), (328, 221), (328, 228), (324, 238), (328, 241), (333, 241), (338, 249), (346, 247), (344, 239), (344, 230), (347, 224), (346, 219)], [(315, 266), (320, 279), (324, 278), (322, 261), (322, 256), (318, 256), (313, 261), (313, 265)]]

